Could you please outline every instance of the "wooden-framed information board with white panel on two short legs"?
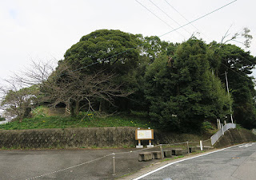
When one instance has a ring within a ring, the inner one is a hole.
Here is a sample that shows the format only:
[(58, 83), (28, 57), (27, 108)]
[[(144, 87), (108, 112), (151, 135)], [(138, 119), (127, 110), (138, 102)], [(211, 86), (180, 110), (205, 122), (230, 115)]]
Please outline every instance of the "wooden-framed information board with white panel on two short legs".
[(154, 130), (153, 129), (136, 129), (135, 131), (135, 139), (138, 140), (138, 146), (136, 148), (143, 148), (141, 144), (141, 140), (149, 140), (149, 145), (146, 147), (154, 147), (154, 145), (151, 144), (151, 140), (154, 139)]

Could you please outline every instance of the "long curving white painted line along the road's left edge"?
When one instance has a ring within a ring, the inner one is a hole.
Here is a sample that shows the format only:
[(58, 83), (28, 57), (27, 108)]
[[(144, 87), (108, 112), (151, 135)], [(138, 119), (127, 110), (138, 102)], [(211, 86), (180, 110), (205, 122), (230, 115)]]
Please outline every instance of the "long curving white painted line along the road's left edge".
[[(242, 146), (244, 146), (244, 145), (246, 145), (246, 144), (243, 144)], [(241, 146), (241, 144), (235, 145), (233, 147), (238, 147), (238, 146)], [(230, 149), (230, 148), (232, 148), (232, 147), (226, 147), (226, 148), (223, 148), (221, 150), (212, 151), (212, 152), (209, 152), (209, 153), (206, 153), (206, 154), (203, 154), (203, 155), (198, 155), (198, 156), (194, 156), (194, 157), (191, 157), (191, 158), (185, 158), (185, 159), (182, 159), (182, 160), (179, 160), (179, 161), (176, 161), (176, 162), (170, 162), (169, 164), (166, 164), (165, 166), (162, 166), (162, 167), (159, 167), (158, 169), (152, 170), (152, 171), (150, 171), (146, 174), (143, 174), (143, 175), (139, 176), (138, 178), (134, 178), (133, 180), (138, 180), (138, 179), (141, 179), (141, 178), (145, 178), (146, 176), (148, 176), (150, 174), (153, 174), (153, 173), (157, 172), (158, 170), (162, 170), (162, 169), (166, 168), (167, 166), (173, 165), (173, 164), (178, 163), (178, 162), (183, 162), (183, 161), (186, 161), (186, 160), (189, 160), (189, 159), (192, 159), (192, 158), (198, 158), (198, 157), (202, 157), (202, 156), (205, 156), (205, 155), (210, 155), (210, 154), (213, 154), (215, 152), (223, 151), (223, 150)]]

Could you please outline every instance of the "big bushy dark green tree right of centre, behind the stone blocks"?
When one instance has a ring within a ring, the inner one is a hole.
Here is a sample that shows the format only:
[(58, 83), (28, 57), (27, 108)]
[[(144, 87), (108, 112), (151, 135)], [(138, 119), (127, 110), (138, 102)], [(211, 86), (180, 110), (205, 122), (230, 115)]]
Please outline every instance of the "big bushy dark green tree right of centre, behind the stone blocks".
[(165, 56), (146, 69), (145, 94), (150, 117), (176, 131), (198, 131), (204, 119), (227, 114), (230, 100), (210, 71), (203, 41), (190, 39), (178, 46), (170, 66)]

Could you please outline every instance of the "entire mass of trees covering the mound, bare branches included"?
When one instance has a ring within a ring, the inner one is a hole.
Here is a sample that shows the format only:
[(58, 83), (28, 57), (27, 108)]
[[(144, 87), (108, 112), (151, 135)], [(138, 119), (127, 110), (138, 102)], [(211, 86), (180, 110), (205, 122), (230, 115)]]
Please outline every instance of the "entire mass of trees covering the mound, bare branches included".
[[(30, 82), (40, 87), (37, 95), (30, 92), (33, 88), (11, 90), (1, 103), (9, 112), (30, 108), (34, 97), (43, 97), (37, 99), (41, 103), (65, 104), (72, 115), (144, 111), (172, 131), (199, 131), (203, 121), (223, 120), (232, 113), (235, 123), (252, 128), (256, 91), (250, 74), (255, 64), (256, 58), (236, 45), (206, 44), (195, 37), (174, 44), (100, 29), (72, 45), (50, 76), (47, 66), (38, 65), (39, 74), (30, 73)], [(14, 98), (23, 98), (22, 104), (12, 106)], [(21, 119), (26, 116), (17, 113)]]

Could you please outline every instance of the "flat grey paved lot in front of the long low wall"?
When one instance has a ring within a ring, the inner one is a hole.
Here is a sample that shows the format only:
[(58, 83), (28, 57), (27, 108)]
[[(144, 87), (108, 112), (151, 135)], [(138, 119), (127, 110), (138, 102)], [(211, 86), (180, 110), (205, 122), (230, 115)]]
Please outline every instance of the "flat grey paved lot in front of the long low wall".
[[(152, 150), (159, 150), (159, 147)], [(113, 152), (116, 154), (114, 176), (111, 155)], [(0, 150), (0, 180), (114, 179), (124, 174), (134, 173), (160, 160), (138, 162), (139, 152), (135, 148)]]

